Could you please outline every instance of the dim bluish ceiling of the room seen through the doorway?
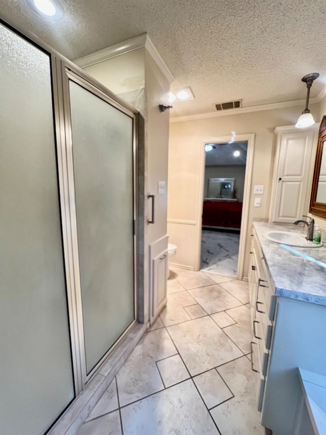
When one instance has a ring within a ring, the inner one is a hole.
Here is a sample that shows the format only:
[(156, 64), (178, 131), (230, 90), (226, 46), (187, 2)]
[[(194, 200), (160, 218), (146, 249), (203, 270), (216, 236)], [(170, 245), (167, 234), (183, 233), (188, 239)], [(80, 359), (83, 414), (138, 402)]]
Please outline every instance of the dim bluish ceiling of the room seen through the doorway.
[[(205, 166), (246, 165), (248, 142), (219, 143), (211, 151), (205, 152)], [(233, 152), (240, 151), (234, 157)]]

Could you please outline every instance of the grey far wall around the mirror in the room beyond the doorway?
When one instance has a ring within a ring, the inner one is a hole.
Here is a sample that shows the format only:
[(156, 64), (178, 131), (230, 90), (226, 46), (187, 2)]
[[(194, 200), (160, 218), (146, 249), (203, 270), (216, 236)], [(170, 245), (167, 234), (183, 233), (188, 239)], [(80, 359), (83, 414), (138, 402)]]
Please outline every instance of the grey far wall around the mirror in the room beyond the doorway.
[(243, 199), (244, 165), (205, 166), (204, 197), (207, 197), (209, 178), (234, 178), (235, 197), (238, 201)]

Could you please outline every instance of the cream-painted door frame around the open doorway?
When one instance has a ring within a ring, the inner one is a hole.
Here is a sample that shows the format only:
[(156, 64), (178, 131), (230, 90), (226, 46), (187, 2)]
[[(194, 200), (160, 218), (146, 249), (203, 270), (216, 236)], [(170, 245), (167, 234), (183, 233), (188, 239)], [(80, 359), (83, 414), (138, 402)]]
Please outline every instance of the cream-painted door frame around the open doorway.
[[(203, 195), (204, 195), (204, 184), (205, 184), (205, 145), (207, 143), (226, 143), (230, 141), (230, 136), (217, 136), (208, 139), (203, 139), (201, 143), (201, 153), (200, 153), (200, 173), (199, 173), (199, 192), (198, 192), (198, 204), (197, 204), (197, 265), (196, 270), (200, 270), (201, 263), (201, 239), (202, 239), (202, 214), (203, 214)], [(246, 171), (244, 173), (244, 186), (243, 186), (243, 200), (242, 200), (242, 213), (241, 213), (241, 226), (240, 226), (240, 239), (239, 239), (239, 255), (238, 255), (238, 267), (237, 267), (237, 279), (242, 279), (243, 277), (243, 265), (244, 265), (244, 254), (246, 249), (246, 236), (248, 229), (248, 218), (249, 218), (249, 205), (250, 205), (250, 189), (252, 182), (253, 173), (253, 157), (254, 157), (254, 147), (255, 147), (255, 134), (243, 134), (236, 135), (234, 137), (236, 142), (248, 142), (247, 146), (247, 160), (246, 160)]]

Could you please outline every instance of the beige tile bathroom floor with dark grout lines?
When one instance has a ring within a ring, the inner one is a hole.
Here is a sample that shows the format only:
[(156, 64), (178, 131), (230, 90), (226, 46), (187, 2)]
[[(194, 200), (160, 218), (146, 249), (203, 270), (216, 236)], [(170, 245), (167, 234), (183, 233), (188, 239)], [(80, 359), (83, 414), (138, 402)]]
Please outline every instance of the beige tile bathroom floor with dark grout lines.
[(248, 284), (172, 269), (168, 304), (78, 435), (263, 435)]

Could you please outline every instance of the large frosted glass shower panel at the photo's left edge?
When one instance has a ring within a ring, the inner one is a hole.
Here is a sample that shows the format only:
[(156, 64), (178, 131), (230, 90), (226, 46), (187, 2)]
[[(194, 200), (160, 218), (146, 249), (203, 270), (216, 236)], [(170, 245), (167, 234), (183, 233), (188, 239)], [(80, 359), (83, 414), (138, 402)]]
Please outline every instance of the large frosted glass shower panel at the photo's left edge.
[(49, 55), (0, 24), (0, 433), (74, 398)]

